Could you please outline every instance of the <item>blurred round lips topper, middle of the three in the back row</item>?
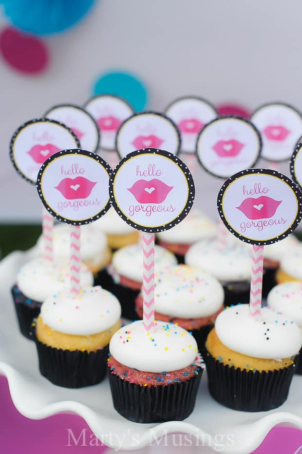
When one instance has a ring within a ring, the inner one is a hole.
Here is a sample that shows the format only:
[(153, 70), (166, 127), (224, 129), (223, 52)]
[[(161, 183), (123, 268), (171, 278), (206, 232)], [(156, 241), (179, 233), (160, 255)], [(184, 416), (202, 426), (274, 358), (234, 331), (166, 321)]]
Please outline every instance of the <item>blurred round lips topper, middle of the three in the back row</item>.
[(175, 99), (167, 107), (166, 115), (180, 131), (181, 151), (184, 153), (195, 153), (198, 134), (209, 121), (218, 117), (214, 106), (196, 96)]

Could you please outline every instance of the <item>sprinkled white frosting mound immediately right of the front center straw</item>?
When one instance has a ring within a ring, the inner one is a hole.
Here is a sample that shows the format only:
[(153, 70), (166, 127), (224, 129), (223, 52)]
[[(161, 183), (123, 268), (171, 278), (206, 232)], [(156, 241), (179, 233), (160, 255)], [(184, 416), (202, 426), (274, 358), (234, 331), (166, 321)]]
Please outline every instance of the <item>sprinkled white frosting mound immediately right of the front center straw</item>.
[(201, 318), (224, 302), (221, 283), (206, 271), (187, 265), (165, 268), (155, 275), (155, 311), (180, 318)]

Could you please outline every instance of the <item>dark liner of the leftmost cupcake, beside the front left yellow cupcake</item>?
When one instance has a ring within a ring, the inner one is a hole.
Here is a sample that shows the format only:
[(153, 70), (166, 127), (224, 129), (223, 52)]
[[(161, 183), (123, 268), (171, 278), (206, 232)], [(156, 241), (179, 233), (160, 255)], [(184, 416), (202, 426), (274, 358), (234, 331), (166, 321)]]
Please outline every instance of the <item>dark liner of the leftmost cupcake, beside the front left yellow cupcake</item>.
[(27, 337), (27, 339), (33, 340), (31, 335), (31, 325), (33, 318), (38, 317), (40, 313), (41, 303), (29, 300), (22, 292), (20, 292), (17, 285), (12, 287), (11, 292), (15, 303), (20, 332), (23, 336)]

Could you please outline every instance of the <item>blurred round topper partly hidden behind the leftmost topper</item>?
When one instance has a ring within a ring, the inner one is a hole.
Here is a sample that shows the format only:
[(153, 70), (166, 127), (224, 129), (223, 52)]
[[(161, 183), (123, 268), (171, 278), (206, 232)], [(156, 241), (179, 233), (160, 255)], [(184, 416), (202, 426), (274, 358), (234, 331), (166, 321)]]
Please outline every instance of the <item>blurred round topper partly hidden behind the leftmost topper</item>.
[(81, 148), (96, 152), (100, 140), (99, 129), (92, 115), (85, 109), (73, 104), (59, 104), (49, 109), (45, 117), (66, 124), (76, 134)]

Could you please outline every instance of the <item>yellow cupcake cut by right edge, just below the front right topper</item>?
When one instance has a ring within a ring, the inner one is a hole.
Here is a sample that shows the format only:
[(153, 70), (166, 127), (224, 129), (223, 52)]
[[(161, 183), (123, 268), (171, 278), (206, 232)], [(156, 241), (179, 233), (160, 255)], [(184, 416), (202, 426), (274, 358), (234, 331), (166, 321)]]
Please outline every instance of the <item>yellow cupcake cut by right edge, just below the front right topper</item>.
[(276, 273), (277, 284), (283, 282), (302, 281), (302, 244), (299, 243), (289, 254), (280, 260), (280, 268)]

